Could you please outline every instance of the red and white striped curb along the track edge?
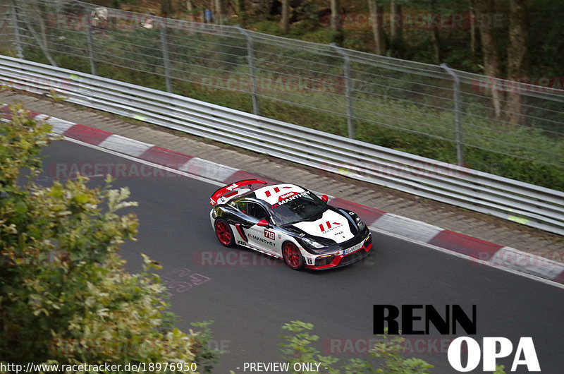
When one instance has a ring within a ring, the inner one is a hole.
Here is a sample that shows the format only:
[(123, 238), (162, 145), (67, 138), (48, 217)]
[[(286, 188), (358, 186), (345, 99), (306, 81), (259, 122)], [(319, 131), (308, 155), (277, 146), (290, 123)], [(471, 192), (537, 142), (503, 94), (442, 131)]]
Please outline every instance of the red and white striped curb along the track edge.
[[(4, 119), (10, 119), (7, 107), (0, 107), (0, 114)], [(54, 133), (80, 140), (83, 143), (103, 147), (107, 150), (141, 159), (146, 162), (171, 167), (203, 179), (219, 183), (233, 183), (241, 179), (261, 178), (255, 174), (234, 169), (216, 162), (200, 159), (157, 145), (140, 142), (121, 135), (115, 135), (97, 128), (72, 123), (63, 119), (56, 119), (45, 114), (30, 111), (30, 117), (49, 123)], [(274, 182), (274, 180), (266, 179)], [(331, 198), (331, 205), (345, 207), (357, 212), (368, 227), (376, 231), (400, 236), (411, 241), (427, 243), (431, 246), (443, 248), (453, 253), (468, 256), (495, 267), (501, 267), (513, 272), (521, 272), (564, 284), (564, 264), (558, 263), (538, 255), (532, 255), (515, 248), (501, 246), (496, 243), (477, 239), (472, 236), (459, 234), (442, 229), (425, 222), (393, 215), (383, 210), (352, 203), (341, 198)]]

